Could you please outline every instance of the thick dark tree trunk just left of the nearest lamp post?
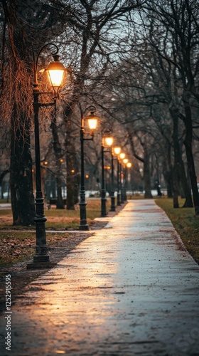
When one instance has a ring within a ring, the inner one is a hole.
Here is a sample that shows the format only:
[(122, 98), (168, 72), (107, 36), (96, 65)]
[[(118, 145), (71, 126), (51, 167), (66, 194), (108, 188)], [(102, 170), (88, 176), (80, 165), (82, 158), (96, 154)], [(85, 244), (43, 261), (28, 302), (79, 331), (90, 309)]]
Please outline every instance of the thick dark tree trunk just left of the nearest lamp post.
[(13, 224), (34, 224), (35, 206), (33, 196), (32, 159), (30, 150), (29, 122), (15, 130), (15, 115), (11, 117), (11, 206)]

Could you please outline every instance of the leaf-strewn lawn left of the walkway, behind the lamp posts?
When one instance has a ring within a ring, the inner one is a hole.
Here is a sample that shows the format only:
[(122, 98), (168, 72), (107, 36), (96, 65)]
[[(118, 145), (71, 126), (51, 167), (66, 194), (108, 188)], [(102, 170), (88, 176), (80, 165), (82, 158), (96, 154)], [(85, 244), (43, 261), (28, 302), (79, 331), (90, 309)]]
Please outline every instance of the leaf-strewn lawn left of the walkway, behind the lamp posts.
[[(107, 211), (110, 202), (107, 199)], [(100, 199), (87, 201), (87, 224), (92, 225), (95, 218), (101, 214)], [(45, 223), (47, 244), (55, 244), (69, 236), (67, 230), (79, 229), (80, 209), (46, 209)], [(35, 254), (36, 227), (13, 226), (11, 209), (0, 210), (0, 267), (9, 266), (12, 263), (25, 261)], [(50, 231), (65, 230), (65, 233), (50, 233)], [(49, 232), (48, 232), (49, 231)]]

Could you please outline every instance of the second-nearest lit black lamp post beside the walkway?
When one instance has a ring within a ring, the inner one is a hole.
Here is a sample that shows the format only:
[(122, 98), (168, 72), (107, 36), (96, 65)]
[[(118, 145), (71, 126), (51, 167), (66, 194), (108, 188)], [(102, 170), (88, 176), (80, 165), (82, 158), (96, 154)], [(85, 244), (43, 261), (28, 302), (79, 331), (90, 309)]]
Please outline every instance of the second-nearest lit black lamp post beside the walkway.
[[(84, 142), (85, 140), (93, 140), (94, 130), (97, 127), (97, 116), (95, 116), (95, 107), (90, 106), (85, 110), (90, 110), (90, 114), (87, 117), (82, 115), (81, 117), (81, 127), (80, 127), (80, 145), (81, 145), (81, 179), (80, 179), (80, 230), (89, 230), (89, 226), (87, 225), (87, 211), (86, 206), (87, 202), (85, 201), (85, 162), (84, 162)], [(87, 120), (88, 127), (90, 131), (86, 132), (84, 127), (84, 122)], [(85, 133), (91, 135), (89, 138), (85, 138)]]

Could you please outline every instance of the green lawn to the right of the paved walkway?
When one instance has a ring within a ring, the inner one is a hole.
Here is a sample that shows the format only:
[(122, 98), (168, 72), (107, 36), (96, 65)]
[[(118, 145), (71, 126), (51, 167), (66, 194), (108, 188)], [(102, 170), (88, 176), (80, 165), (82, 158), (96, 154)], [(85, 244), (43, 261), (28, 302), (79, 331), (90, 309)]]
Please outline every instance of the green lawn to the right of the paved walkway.
[(179, 198), (179, 208), (173, 209), (173, 199), (161, 197), (156, 204), (163, 209), (191, 256), (199, 263), (199, 216), (194, 208), (183, 208), (185, 199)]

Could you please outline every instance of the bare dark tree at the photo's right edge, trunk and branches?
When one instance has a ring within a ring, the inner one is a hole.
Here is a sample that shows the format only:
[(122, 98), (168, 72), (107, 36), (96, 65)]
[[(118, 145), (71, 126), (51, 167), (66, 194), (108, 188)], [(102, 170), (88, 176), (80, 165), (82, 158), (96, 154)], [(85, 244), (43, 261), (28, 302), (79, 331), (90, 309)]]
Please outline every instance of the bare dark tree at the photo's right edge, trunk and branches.
[[(146, 19), (150, 23), (150, 43), (178, 76), (178, 113), (185, 125), (185, 151), (193, 192), (195, 214), (199, 214), (199, 194), (193, 159), (193, 111), (198, 103), (198, 6), (195, 1), (146, 1)], [(158, 31), (154, 31), (157, 28)], [(152, 31), (153, 30), (153, 31)], [(160, 36), (161, 34), (161, 36)], [(181, 88), (181, 90), (180, 90)], [(181, 91), (181, 93), (180, 93)], [(196, 102), (195, 102), (196, 100)], [(194, 103), (195, 102), (195, 103)], [(177, 106), (177, 105), (176, 105)]]

